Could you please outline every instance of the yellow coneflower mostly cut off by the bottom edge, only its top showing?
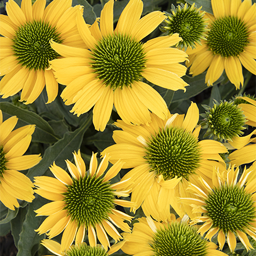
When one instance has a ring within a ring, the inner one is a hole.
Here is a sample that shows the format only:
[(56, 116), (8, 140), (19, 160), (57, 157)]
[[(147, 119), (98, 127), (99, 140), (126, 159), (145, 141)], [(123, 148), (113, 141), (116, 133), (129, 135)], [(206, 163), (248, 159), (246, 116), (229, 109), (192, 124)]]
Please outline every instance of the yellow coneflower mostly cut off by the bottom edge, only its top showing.
[(106, 251), (103, 246), (88, 246), (86, 243), (70, 246), (67, 250), (62, 251), (61, 246), (54, 240), (44, 239), (41, 244), (49, 251), (58, 256), (108, 256), (118, 251), (123, 242), (114, 244), (109, 251)]

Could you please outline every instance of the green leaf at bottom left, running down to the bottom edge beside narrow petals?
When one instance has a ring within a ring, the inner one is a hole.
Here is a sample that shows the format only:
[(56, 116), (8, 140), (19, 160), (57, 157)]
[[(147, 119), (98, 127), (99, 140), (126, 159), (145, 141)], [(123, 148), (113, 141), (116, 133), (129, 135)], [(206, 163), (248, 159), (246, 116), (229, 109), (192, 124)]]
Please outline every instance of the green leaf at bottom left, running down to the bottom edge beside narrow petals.
[(22, 223), (20, 239), (17, 246), (17, 256), (32, 256), (32, 248), (34, 246), (39, 248), (39, 242), (45, 237), (45, 235), (39, 236), (37, 232), (35, 232), (35, 229), (38, 229), (42, 222), (42, 217), (35, 217), (36, 214), (34, 212), (45, 203), (47, 203), (45, 199), (40, 196), (36, 196), (33, 202), (28, 204), (26, 218), (24, 218), (24, 222)]

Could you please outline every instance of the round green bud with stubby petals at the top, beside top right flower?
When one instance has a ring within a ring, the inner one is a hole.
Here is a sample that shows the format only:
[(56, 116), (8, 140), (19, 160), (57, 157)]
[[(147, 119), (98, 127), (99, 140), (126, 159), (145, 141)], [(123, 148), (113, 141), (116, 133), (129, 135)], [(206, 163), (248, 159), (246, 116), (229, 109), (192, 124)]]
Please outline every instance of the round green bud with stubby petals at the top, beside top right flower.
[(172, 5), (172, 14), (167, 13), (168, 19), (164, 20), (164, 26), (160, 28), (162, 32), (168, 35), (178, 33), (183, 39), (178, 43), (179, 48), (187, 48), (200, 44), (201, 39), (205, 39), (207, 23), (205, 23), (204, 13), (200, 9), (188, 4), (178, 5), (176, 8)]

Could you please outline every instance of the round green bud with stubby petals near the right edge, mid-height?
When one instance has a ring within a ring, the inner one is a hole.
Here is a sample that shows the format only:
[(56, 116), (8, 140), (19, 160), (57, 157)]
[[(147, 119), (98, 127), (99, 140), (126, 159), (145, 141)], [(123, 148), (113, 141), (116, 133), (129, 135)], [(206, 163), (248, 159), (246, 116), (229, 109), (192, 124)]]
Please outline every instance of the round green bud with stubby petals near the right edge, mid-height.
[[(204, 106), (208, 111), (205, 113), (203, 128), (208, 128), (207, 134), (213, 135), (219, 140), (231, 140), (235, 136), (243, 134), (243, 125), (246, 122), (243, 111), (232, 102), (214, 104), (212, 108)], [(204, 115), (202, 115), (204, 116)]]

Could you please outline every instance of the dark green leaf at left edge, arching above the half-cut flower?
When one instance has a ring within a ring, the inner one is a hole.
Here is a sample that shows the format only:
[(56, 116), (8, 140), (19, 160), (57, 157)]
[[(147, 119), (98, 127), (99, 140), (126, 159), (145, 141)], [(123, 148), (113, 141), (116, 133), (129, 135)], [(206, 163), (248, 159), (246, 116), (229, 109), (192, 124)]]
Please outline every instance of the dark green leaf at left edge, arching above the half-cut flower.
[(59, 138), (55, 135), (52, 127), (42, 117), (33, 111), (21, 109), (9, 102), (1, 102), (0, 109), (9, 116), (19, 118), (18, 126), (35, 124), (35, 132), (32, 136), (33, 141), (41, 143), (55, 143)]

